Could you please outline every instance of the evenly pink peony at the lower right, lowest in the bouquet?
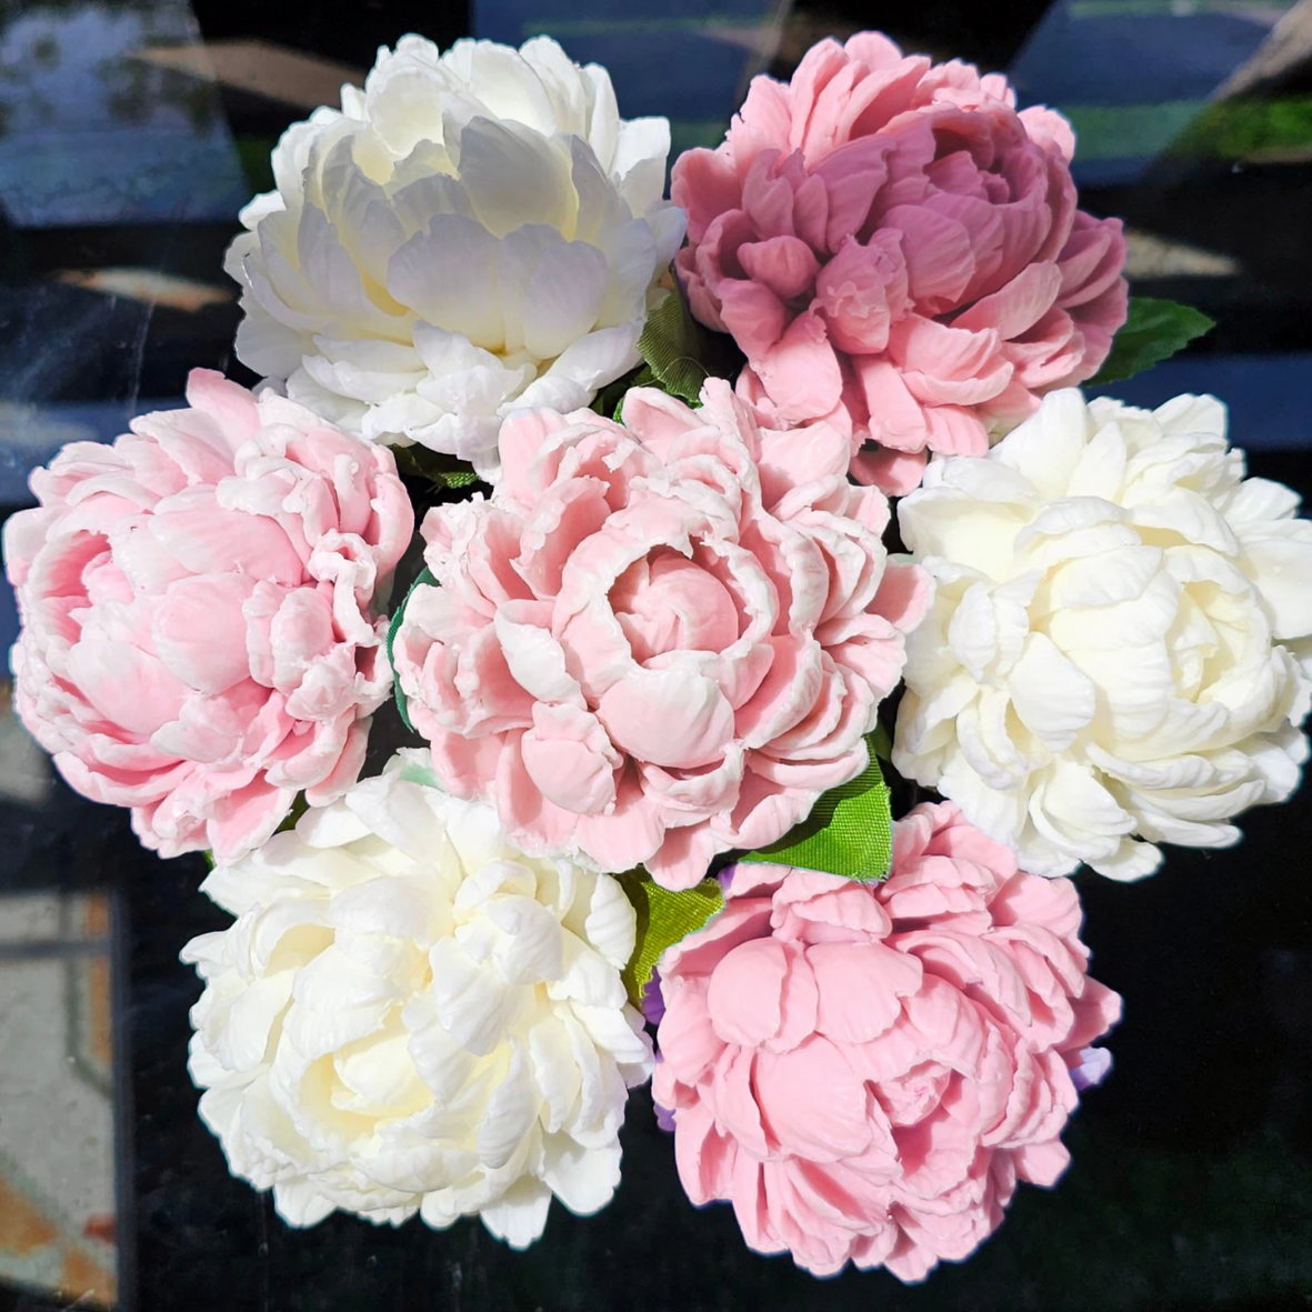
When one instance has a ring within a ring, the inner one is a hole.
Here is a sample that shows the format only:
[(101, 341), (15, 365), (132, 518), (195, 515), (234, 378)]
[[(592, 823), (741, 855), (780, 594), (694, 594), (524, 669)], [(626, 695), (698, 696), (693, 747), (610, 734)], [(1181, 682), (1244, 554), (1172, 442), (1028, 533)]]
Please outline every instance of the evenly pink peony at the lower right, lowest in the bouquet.
[(1061, 1174), (1076, 1080), (1106, 1071), (1120, 998), (1078, 928), (1069, 880), (1018, 874), (951, 804), (897, 824), (883, 884), (733, 867), (660, 964), (652, 1093), (691, 1200), (817, 1275), (964, 1258), (1017, 1179)]

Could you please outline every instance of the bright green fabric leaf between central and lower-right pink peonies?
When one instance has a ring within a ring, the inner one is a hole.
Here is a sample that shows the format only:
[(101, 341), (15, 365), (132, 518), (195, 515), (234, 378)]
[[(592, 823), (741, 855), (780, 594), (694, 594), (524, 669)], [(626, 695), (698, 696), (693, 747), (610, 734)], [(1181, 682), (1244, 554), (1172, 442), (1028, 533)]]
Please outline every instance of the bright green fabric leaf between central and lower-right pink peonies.
[(778, 842), (739, 859), (823, 870), (848, 879), (884, 879), (893, 859), (893, 817), (888, 785), (875, 745), (870, 747), (870, 764), (857, 778), (825, 792), (811, 815)]

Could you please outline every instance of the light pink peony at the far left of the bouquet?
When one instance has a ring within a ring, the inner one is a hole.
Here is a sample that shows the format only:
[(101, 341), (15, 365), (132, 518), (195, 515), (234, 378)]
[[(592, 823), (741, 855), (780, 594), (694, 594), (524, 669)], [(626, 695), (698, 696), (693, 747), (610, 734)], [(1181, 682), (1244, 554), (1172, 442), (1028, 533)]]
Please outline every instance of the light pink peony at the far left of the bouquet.
[(370, 602), (415, 518), (384, 447), (205, 369), (186, 395), (31, 475), (14, 701), (146, 846), (227, 862), (356, 781), (391, 686)]

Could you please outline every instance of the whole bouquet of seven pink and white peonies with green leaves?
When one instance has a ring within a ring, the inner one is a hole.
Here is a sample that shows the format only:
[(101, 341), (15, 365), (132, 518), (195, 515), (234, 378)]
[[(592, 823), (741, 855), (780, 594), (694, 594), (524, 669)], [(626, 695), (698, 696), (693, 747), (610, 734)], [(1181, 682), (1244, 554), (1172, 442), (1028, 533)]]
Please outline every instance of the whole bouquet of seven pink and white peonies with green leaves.
[(665, 199), (602, 68), (405, 37), (241, 214), (261, 386), (33, 475), (18, 712), (210, 854), (190, 1071), (289, 1224), (523, 1248), (648, 1080), (689, 1199), (817, 1275), (1061, 1174), (1120, 1012), (1065, 876), (1235, 844), (1312, 698), (1296, 497), (1211, 398), (1078, 390), (1207, 324), (1073, 151), (863, 33)]

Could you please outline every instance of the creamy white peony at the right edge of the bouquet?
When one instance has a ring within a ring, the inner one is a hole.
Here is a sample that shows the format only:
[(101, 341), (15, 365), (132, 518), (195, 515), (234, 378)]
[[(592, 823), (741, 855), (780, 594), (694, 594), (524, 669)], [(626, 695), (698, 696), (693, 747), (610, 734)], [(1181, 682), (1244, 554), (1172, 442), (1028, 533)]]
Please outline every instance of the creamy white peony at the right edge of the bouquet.
[(899, 508), (937, 583), (907, 648), (893, 765), (1035, 874), (1138, 879), (1223, 848), (1299, 781), (1312, 523), (1244, 478), (1225, 409), (1054, 392)]

